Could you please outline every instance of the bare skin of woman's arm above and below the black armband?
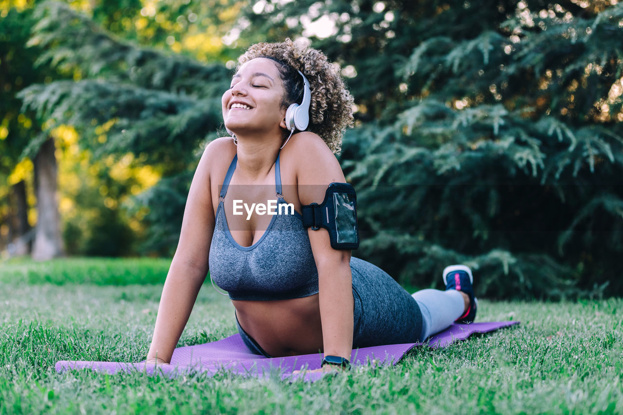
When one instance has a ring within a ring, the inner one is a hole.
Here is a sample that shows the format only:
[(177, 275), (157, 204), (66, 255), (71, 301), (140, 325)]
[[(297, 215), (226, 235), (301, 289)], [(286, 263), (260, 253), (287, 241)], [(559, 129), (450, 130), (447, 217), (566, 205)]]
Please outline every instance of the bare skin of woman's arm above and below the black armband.
[[(297, 154), (298, 198), (301, 204), (322, 203), (332, 182), (346, 180), (340, 163), (322, 139), (313, 133), (299, 133)], [(293, 146), (295, 147), (295, 146)], [(313, 155), (313, 156), (310, 156)], [(331, 247), (324, 228), (308, 230), (318, 269), (318, 297), (325, 355), (351, 360), (353, 350), (353, 280), (350, 250)]]

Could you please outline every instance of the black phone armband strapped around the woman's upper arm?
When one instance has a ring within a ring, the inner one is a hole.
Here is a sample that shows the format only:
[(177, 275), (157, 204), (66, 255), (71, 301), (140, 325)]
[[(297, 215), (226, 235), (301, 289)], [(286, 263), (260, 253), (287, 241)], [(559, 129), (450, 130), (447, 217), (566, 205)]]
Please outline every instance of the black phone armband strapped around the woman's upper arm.
[(357, 194), (348, 183), (331, 183), (321, 204), (301, 207), (303, 226), (317, 231), (321, 227), (329, 232), (333, 249), (357, 249)]

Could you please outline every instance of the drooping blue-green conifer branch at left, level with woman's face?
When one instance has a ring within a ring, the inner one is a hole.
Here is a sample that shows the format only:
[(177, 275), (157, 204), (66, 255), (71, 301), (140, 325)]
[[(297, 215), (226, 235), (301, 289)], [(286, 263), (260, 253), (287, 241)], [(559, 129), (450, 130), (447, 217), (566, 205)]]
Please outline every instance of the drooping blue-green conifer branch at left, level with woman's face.
[[(207, 131), (222, 123), (219, 99), (199, 100), (131, 84), (57, 81), (32, 85), (20, 96), (24, 108), (54, 120), (49, 129), (67, 123), (83, 131), (82, 145), (96, 155), (133, 151), (161, 160), (173, 152), (186, 159)], [(97, 128), (110, 120), (114, 122), (103, 140)]]

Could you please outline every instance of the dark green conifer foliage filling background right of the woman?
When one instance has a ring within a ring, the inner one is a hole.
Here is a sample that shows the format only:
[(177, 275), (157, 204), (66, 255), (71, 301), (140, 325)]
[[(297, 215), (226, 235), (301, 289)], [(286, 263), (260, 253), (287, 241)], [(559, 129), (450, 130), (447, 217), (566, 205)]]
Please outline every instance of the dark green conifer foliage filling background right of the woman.
[[(611, 279), (623, 249), (623, 5), (261, 6), (243, 35), (307, 34), (358, 74), (359, 128), (342, 160), (368, 235), (360, 254), (420, 286), (464, 262), (485, 295), (623, 292)], [(314, 21), (333, 29), (313, 36)]]

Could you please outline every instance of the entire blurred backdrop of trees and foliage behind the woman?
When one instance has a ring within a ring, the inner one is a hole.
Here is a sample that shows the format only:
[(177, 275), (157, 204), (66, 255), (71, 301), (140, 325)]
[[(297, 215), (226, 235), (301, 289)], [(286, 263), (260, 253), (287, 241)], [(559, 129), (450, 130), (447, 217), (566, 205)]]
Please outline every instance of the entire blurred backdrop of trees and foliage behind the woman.
[(168, 256), (248, 45), (323, 50), (355, 97), (356, 255), (488, 297), (623, 295), (623, 4), (0, 0), (0, 250)]

